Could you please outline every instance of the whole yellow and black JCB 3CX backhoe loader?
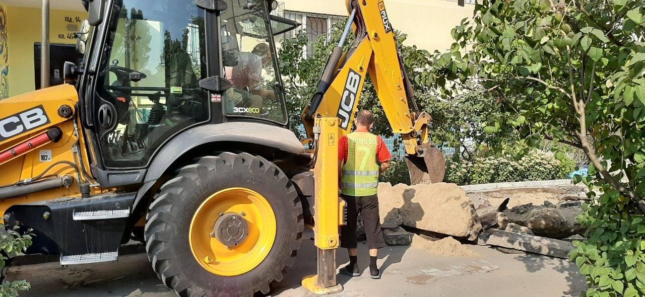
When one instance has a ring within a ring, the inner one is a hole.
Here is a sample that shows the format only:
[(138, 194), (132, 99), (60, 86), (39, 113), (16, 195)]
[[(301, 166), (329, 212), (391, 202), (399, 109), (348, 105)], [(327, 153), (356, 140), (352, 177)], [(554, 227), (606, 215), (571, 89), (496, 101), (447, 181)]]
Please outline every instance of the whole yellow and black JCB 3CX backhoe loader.
[(297, 23), (270, 15), (275, 0), (79, 5), (83, 62), (64, 65), (66, 84), (0, 101), (0, 212), (32, 230), (27, 253), (112, 262), (135, 239), (180, 296), (252, 296), (283, 279), (315, 214), (319, 273), (303, 283), (338, 291), (336, 145), (367, 75), (414, 182), (442, 179), (379, 0), (347, 2), (344, 36), (357, 39), (330, 57), (303, 142), (288, 129), (273, 43)]

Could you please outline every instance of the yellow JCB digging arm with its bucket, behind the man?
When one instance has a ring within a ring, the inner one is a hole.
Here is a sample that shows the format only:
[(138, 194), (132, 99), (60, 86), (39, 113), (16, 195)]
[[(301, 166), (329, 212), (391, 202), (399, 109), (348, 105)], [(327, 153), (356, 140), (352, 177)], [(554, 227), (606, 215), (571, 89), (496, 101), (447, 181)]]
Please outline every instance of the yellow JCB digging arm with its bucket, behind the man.
[[(384, 2), (348, 0), (347, 5), (350, 17), (341, 41), (324, 68), (317, 93), (303, 112), (308, 137), (305, 142), (314, 139), (316, 117), (337, 117), (340, 135), (350, 133), (369, 75), (392, 131), (401, 135), (411, 182), (441, 182), (445, 160), (430, 143), (428, 125), (432, 117), (417, 108)], [(348, 52), (343, 52), (350, 30), (356, 39)]]

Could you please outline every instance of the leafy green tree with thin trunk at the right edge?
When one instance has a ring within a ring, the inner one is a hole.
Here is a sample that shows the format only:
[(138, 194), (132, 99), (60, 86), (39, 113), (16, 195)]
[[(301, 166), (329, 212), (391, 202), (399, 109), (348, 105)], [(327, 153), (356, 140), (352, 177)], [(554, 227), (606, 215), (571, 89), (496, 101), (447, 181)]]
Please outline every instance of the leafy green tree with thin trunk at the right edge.
[[(479, 2), (479, 1), (478, 1)], [(571, 259), (588, 296), (645, 294), (645, 3), (643, 0), (483, 0), (435, 55), (428, 83), (444, 95), (477, 79), (508, 112), (522, 143), (581, 148), (590, 160), (587, 239)], [(557, 155), (562, 155), (558, 153)]]

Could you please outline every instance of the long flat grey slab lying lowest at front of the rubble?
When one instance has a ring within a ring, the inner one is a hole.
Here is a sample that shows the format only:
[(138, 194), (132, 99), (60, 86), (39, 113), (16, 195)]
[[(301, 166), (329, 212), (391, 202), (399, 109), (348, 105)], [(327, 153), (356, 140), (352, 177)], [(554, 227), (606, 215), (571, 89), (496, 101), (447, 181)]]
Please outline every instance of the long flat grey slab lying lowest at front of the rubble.
[(479, 238), (477, 238), (477, 244), (518, 249), (563, 259), (568, 259), (569, 253), (573, 249), (573, 244), (564, 240), (508, 232), (499, 229), (488, 229), (482, 232)]

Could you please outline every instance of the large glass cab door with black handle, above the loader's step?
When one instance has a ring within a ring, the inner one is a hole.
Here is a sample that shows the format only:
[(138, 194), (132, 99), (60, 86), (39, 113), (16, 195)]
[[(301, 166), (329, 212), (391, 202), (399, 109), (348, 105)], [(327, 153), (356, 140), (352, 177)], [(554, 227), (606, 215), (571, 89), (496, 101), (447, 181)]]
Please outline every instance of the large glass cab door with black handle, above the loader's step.
[(145, 168), (164, 142), (210, 118), (199, 81), (209, 76), (211, 16), (194, 0), (114, 4), (90, 99), (92, 129), (101, 167)]

